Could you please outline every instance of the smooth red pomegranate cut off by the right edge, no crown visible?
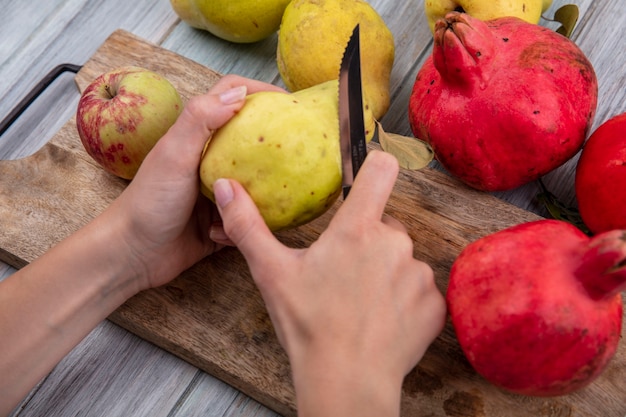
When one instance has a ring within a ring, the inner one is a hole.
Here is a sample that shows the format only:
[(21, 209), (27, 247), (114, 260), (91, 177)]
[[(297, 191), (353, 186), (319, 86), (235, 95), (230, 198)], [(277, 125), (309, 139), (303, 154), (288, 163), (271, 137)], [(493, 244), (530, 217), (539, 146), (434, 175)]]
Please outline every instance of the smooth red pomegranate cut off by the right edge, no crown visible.
[(587, 140), (576, 166), (580, 217), (593, 233), (626, 229), (626, 113)]

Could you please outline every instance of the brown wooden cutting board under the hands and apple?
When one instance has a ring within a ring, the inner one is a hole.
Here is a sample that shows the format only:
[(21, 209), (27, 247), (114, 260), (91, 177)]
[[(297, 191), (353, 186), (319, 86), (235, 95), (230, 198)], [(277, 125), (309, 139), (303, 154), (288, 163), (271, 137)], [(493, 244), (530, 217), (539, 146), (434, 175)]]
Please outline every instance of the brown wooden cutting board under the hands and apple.
[[(185, 100), (205, 92), (220, 77), (118, 31), (77, 74), (77, 85), (82, 91), (101, 73), (128, 64), (164, 75)], [(0, 161), (0, 259), (16, 268), (33, 261), (104, 210), (126, 185), (86, 154), (72, 118), (34, 155)], [(279, 238), (293, 247), (309, 245), (339, 204), (306, 226), (280, 233)], [(415, 256), (433, 267), (442, 292), (447, 288), (449, 268), (465, 245), (507, 226), (538, 219), (432, 169), (402, 171), (387, 212), (407, 226)], [(287, 357), (236, 249), (223, 250), (170, 284), (137, 295), (110, 320), (277, 412), (296, 414)], [(448, 323), (407, 376), (402, 414), (623, 417), (625, 376), (626, 348), (621, 346), (604, 374), (580, 392), (560, 398), (512, 395), (472, 370)]]

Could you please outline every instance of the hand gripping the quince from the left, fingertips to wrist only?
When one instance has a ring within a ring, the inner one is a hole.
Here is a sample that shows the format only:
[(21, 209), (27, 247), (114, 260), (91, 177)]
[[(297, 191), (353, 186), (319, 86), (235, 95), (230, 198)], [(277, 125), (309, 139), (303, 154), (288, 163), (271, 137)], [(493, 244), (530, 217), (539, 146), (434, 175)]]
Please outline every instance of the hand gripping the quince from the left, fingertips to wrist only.
[(246, 94), (266, 90), (284, 91), (227, 75), (207, 94), (191, 98), (106, 213), (123, 220), (121, 239), (144, 279), (141, 288), (166, 283), (221, 247), (209, 237), (211, 228), (220, 228), (217, 210), (199, 194), (202, 151), (213, 131), (241, 109)]

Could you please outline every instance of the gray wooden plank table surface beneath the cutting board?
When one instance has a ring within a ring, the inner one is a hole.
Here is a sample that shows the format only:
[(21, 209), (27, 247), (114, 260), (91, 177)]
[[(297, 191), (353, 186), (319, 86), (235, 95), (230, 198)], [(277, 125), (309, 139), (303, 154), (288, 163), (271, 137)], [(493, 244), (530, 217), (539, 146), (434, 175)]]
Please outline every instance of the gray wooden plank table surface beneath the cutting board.
[[(385, 130), (410, 135), (406, 109), (415, 74), (431, 51), (423, 1), (370, 1), (396, 41), (392, 105)], [(593, 63), (600, 82), (594, 128), (626, 111), (626, 13), (620, 0), (575, 3), (581, 17), (572, 38)], [(542, 24), (554, 27), (552, 23)], [(191, 29), (168, 0), (0, 0), (0, 117), (51, 68), (82, 64), (115, 29), (123, 28), (221, 73), (282, 85), (275, 65), (276, 37), (235, 45)], [(34, 153), (73, 115), (73, 75), (50, 86), (2, 137), (0, 159)], [(575, 204), (576, 158), (546, 176), (545, 184)], [(535, 184), (497, 195), (546, 215)], [(14, 270), (0, 263), (0, 279)], [(1, 352), (0, 352), (1, 354)], [(602, 414), (602, 413), (600, 413)], [(272, 411), (171, 354), (105, 321), (16, 408), (13, 416), (273, 416)]]

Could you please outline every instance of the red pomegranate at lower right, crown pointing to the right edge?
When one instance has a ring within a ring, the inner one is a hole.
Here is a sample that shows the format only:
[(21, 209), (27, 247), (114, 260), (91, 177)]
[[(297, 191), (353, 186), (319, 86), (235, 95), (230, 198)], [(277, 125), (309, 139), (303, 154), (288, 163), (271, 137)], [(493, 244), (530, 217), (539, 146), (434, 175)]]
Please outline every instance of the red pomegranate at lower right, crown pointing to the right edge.
[(515, 393), (556, 396), (589, 384), (613, 357), (625, 283), (626, 231), (589, 238), (538, 220), (469, 244), (446, 299), (479, 374)]

